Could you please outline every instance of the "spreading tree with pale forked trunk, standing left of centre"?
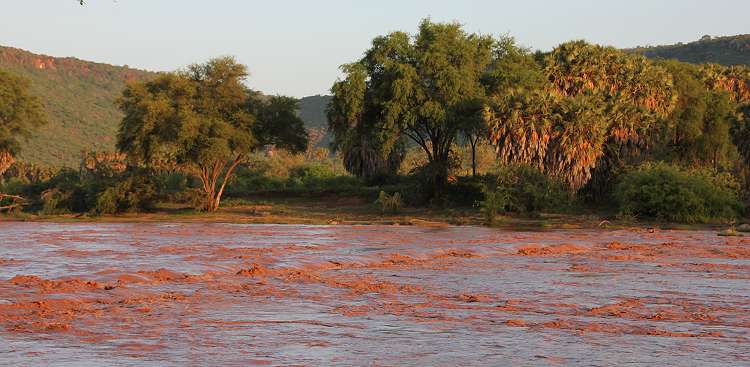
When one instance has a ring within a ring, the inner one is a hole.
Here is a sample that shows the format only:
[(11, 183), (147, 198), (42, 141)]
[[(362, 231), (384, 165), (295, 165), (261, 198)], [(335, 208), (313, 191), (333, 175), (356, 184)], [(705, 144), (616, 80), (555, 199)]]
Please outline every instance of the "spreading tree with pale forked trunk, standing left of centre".
[(125, 117), (117, 148), (140, 164), (174, 160), (200, 180), (204, 209), (218, 209), (229, 178), (257, 144), (246, 77), (245, 66), (225, 57), (130, 85), (119, 103)]

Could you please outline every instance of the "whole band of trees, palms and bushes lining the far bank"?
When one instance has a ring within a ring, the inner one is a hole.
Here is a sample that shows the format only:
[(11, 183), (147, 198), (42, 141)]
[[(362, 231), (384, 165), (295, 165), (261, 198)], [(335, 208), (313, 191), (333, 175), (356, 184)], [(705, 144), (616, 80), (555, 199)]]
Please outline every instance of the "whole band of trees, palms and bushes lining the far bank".
[(321, 129), (299, 100), (248, 88), (232, 57), (133, 80), (117, 150), (74, 169), (17, 160), (47, 121), (29, 81), (0, 70), (0, 212), (725, 235), (750, 213), (748, 67), (585, 41), (532, 52), (426, 19), (341, 71)]

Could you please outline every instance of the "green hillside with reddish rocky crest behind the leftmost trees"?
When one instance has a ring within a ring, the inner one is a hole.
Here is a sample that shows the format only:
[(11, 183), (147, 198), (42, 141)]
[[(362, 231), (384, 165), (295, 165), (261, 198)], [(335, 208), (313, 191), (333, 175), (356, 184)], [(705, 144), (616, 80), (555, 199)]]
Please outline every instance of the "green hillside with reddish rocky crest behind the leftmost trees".
[(155, 73), (0, 47), (0, 69), (31, 82), (49, 124), (24, 143), (20, 159), (76, 167), (83, 150), (112, 150), (122, 114), (114, 101), (126, 83)]

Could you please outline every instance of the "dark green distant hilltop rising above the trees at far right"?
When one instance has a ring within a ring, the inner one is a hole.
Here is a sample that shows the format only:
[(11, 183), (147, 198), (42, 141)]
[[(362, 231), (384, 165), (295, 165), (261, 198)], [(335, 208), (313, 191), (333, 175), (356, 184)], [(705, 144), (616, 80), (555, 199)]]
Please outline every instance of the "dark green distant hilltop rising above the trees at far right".
[(650, 58), (677, 59), (694, 64), (750, 66), (750, 34), (728, 37), (704, 36), (690, 43), (638, 47), (628, 51), (642, 53)]

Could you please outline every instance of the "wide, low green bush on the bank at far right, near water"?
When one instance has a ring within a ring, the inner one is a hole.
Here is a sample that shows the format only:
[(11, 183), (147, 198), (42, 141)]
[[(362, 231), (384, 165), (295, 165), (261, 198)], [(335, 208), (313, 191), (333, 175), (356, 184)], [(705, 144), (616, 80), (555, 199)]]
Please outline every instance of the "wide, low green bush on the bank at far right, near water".
[(615, 188), (623, 215), (681, 223), (736, 218), (739, 185), (730, 175), (648, 163), (626, 173)]

